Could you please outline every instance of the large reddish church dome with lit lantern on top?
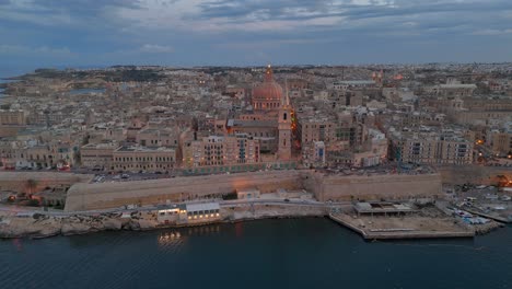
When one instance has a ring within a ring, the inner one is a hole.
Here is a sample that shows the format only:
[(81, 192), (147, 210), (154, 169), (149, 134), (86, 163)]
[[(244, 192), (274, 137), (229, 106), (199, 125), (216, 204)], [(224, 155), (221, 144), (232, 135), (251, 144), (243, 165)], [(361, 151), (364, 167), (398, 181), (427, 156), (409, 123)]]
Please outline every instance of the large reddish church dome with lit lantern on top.
[(272, 76), (272, 70), (268, 66), (265, 72), (265, 81), (253, 89), (253, 106), (257, 109), (279, 108), (282, 99), (282, 88)]

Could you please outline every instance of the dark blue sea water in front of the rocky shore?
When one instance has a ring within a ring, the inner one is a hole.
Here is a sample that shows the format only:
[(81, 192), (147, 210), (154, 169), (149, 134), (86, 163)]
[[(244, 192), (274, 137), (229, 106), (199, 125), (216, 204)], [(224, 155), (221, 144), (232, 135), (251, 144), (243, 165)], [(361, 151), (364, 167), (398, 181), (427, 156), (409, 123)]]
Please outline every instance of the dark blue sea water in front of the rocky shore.
[(0, 241), (0, 288), (512, 288), (512, 227), (368, 242), (327, 218)]

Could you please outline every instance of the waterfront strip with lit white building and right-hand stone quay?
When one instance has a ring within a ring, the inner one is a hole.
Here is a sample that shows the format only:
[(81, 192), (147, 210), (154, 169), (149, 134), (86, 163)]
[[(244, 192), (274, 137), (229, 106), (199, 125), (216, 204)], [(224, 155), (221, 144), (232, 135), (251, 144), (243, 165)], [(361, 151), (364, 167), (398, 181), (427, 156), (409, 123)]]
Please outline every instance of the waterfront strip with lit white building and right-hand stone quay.
[[(260, 219), (327, 217), (364, 240), (474, 238), (501, 223), (467, 223), (432, 203), (319, 203), (312, 198), (194, 201), (159, 207), (129, 207), (116, 211), (54, 213), (30, 211), (0, 217), (1, 238), (42, 239), (101, 231), (148, 231), (202, 227)], [(311, 197), (311, 196), (310, 196)]]

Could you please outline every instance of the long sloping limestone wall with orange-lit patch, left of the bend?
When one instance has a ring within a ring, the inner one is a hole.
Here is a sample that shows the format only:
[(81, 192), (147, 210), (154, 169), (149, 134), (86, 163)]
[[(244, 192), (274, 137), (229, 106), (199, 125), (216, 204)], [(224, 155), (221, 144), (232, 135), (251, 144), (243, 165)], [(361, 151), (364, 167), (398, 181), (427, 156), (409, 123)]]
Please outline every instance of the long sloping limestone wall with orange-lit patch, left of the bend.
[(153, 181), (75, 184), (68, 190), (66, 210), (116, 208), (125, 205), (154, 205), (224, 195), (236, 189), (257, 188), (263, 194), (278, 188), (300, 189), (299, 171), (272, 171), (231, 175), (187, 176)]

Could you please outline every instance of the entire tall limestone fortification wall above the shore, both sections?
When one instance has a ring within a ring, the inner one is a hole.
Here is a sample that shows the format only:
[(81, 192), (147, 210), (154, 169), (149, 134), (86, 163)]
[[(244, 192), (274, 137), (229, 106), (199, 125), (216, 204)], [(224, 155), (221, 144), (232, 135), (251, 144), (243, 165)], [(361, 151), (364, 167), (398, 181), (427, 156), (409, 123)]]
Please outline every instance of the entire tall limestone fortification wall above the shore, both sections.
[(318, 200), (398, 199), (432, 197), (441, 193), (439, 174), (323, 175), (313, 171), (270, 171), (231, 175), (188, 176), (152, 181), (75, 184), (68, 190), (67, 211), (156, 205), (206, 196), (220, 197), (236, 189), (265, 193), (306, 189)]

